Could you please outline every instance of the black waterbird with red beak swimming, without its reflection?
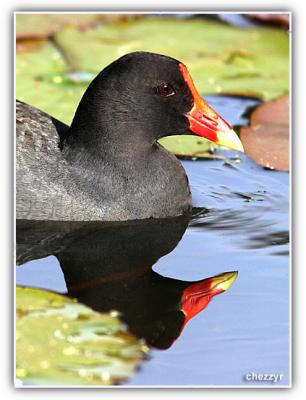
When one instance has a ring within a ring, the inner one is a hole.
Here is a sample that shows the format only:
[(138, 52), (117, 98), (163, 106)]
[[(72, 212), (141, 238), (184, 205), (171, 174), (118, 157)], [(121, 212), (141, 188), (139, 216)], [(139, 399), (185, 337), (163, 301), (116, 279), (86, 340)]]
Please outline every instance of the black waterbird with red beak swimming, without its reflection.
[(186, 173), (157, 140), (192, 131), (217, 141), (220, 129), (230, 127), (195, 92), (182, 65), (145, 52), (120, 58), (89, 85), (71, 127), (17, 102), (17, 219), (188, 213)]

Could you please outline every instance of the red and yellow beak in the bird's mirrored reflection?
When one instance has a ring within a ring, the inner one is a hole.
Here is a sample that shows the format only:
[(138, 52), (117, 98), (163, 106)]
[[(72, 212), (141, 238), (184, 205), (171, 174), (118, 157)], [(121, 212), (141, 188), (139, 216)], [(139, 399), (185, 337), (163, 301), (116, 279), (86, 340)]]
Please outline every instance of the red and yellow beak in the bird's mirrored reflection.
[(207, 307), (217, 294), (230, 288), (238, 276), (237, 271), (225, 272), (188, 286), (181, 297), (181, 311), (185, 314), (184, 325)]

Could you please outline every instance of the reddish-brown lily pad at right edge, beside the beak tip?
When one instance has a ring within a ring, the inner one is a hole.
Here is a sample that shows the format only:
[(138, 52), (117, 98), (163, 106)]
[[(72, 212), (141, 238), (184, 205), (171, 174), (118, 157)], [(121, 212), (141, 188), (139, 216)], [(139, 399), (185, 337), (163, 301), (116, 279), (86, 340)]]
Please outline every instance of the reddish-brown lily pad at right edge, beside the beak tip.
[(240, 132), (245, 152), (258, 164), (289, 170), (289, 96), (260, 105)]

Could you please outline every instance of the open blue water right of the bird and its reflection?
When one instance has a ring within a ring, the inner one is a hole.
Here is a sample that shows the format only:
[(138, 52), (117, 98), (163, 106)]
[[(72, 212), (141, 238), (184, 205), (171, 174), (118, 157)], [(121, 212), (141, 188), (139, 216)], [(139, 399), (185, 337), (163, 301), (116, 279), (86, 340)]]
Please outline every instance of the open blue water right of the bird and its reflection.
[(154, 351), (130, 383), (260, 385), (245, 381), (245, 374), (276, 372), (284, 374), (280, 384), (288, 384), (288, 176), (244, 157), (237, 169), (221, 161), (184, 166), (195, 204), (205, 199), (210, 211), (191, 221), (177, 248), (154, 270), (182, 280), (228, 270), (239, 276), (167, 352)]

